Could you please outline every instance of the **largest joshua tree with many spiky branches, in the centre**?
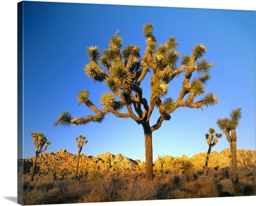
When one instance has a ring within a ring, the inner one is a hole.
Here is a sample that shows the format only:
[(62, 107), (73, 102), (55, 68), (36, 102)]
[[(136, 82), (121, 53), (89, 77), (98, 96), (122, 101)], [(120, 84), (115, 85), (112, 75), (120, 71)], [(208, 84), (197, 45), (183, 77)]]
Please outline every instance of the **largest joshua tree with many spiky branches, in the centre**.
[[(203, 106), (212, 106), (218, 102), (212, 93), (203, 96), (204, 86), (210, 79), (210, 68), (214, 65), (206, 59), (201, 59), (206, 52), (205, 46), (196, 44), (192, 54), (183, 55), (181, 66), (177, 67), (180, 54), (176, 51), (179, 45), (176, 38), (172, 36), (165, 43), (157, 43), (152, 24), (144, 25), (143, 33), (146, 38), (146, 50), (142, 57), (139, 46), (131, 44), (121, 49), (123, 40), (118, 36), (118, 31), (110, 38), (109, 49), (104, 49), (102, 55), (98, 46), (87, 47), (86, 53), (90, 62), (84, 67), (85, 74), (94, 82), (102, 82), (110, 89), (110, 92), (101, 95), (100, 102), (103, 109), (99, 109), (91, 102), (88, 90), (82, 89), (77, 95), (79, 105), (85, 104), (95, 115), (76, 118), (70, 112), (64, 111), (59, 115), (54, 126), (102, 122), (108, 113), (119, 118), (133, 119), (144, 129), (146, 179), (152, 180), (152, 132), (159, 129), (164, 120), (170, 120), (170, 114), (178, 107), (202, 109)], [(198, 77), (191, 79), (195, 71)], [(140, 87), (148, 73), (151, 74), (148, 84), (151, 89), (149, 100), (144, 97)], [(177, 99), (166, 97), (168, 84), (181, 73), (184, 73), (184, 79)], [(124, 107), (126, 109), (122, 110)], [(155, 123), (150, 124), (154, 109), (159, 112), (159, 118)]]

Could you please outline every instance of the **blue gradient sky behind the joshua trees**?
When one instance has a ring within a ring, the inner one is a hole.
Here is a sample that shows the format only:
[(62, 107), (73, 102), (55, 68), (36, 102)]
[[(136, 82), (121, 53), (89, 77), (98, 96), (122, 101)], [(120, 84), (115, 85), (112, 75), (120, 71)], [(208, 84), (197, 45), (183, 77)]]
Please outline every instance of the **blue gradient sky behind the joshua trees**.
[[(255, 11), (227, 9), (185, 9), (81, 3), (24, 2), (24, 158), (35, 155), (30, 132), (42, 132), (51, 145), (46, 152), (66, 149), (77, 154), (75, 137), (87, 137), (82, 153), (96, 156), (105, 152), (121, 153), (145, 161), (142, 126), (130, 119), (109, 114), (101, 124), (53, 127), (58, 115), (68, 110), (74, 117), (93, 114), (86, 106), (78, 107), (77, 92), (88, 89), (97, 106), (103, 92), (85, 76), (87, 46), (108, 48), (110, 37), (119, 29), (123, 46), (146, 48), (142, 27), (152, 23), (158, 43), (176, 36), (177, 51), (191, 54), (197, 43), (206, 46), (205, 58), (218, 63), (211, 69), (206, 92), (213, 92), (219, 104), (209, 108), (178, 108), (172, 119), (153, 133), (153, 160), (157, 155), (192, 157), (207, 152), (205, 133), (210, 127), (221, 132), (218, 118), (228, 117), (232, 109), (242, 107), (237, 128), (237, 148), (256, 149), (255, 139)], [(149, 79), (143, 91), (149, 93)], [(170, 84), (169, 96), (180, 91), (183, 75)], [(157, 120), (153, 113), (151, 125)], [(229, 147), (225, 136), (213, 147)]]

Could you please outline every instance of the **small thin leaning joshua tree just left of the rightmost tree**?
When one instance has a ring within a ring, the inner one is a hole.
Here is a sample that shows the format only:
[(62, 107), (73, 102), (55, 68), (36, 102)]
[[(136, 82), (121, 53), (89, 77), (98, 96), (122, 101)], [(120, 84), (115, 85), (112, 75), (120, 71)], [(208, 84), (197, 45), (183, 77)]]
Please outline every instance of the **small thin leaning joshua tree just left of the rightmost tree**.
[(209, 149), (208, 149), (208, 152), (207, 152), (207, 155), (206, 155), (206, 161), (205, 161), (205, 167), (204, 167), (204, 176), (207, 175), (207, 166), (208, 166), (208, 161), (209, 161), (209, 157), (210, 157), (211, 148), (213, 146), (215, 146), (218, 142), (218, 139), (220, 137), (222, 137), (221, 133), (215, 133), (215, 137), (214, 137), (215, 129), (213, 129), (213, 128), (210, 128), (209, 132), (210, 132), (210, 134), (208, 132), (205, 134), (207, 143), (209, 145)]

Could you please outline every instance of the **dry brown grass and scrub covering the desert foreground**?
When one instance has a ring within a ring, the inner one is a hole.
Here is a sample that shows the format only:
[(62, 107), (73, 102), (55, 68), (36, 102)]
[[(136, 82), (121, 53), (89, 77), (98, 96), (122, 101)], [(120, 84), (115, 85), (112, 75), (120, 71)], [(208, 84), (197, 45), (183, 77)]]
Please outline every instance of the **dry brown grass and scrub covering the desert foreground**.
[(144, 172), (107, 174), (92, 180), (24, 178), (24, 205), (91, 203), (132, 200), (181, 199), (225, 196), (255, 196), (255, 168), (238, 168), (239, 184), (234, 187), (231, 170), (172, 174), (156, 172), (146, 181)]

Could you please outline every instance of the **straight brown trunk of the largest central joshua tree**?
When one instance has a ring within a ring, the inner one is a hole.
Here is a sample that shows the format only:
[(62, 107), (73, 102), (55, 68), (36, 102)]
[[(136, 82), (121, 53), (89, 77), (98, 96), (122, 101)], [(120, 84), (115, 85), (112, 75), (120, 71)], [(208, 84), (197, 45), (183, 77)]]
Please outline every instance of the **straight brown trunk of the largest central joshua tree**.
[(153, 146), (152, 146), (152, 132), (148, 131), (145, 135), (146, 148), (146, 180), (153, 180)]

